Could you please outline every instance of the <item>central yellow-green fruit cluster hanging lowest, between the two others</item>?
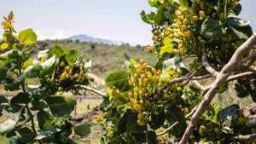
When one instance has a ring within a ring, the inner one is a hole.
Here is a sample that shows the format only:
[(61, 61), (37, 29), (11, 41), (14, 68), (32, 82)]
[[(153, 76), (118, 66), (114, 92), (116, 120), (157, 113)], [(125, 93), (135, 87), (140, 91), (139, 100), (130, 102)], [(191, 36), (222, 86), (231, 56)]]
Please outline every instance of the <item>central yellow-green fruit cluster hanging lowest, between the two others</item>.
[(128, 92), (130, 105), (133, 111), (138, 112), (137, 123), (144, 125), (148, 121), (149, 113), (151, 112), (150, 96), (153, 94), (154, 86), (160, 87), (159, 82), (161, 70), (147, 67), (148, 64), (141, 60), (139, 64), (134, 66), (134, 74), (130, 79), (130, 84), (133, 89)]

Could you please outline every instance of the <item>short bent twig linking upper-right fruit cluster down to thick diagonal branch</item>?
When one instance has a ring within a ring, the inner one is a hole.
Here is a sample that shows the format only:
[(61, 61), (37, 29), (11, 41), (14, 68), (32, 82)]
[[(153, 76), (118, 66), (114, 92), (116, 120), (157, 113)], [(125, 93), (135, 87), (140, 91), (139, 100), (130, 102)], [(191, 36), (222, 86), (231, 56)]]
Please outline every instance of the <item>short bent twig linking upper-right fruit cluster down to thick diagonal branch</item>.
[(207, 49), (202, 49), (202, 55), (201, 55), (201, 64), (204, 66), (207, 70), (207, 72), (211, 73), (213, 78), (217, 78), (218, 72), (209, 64), (207, 61)]

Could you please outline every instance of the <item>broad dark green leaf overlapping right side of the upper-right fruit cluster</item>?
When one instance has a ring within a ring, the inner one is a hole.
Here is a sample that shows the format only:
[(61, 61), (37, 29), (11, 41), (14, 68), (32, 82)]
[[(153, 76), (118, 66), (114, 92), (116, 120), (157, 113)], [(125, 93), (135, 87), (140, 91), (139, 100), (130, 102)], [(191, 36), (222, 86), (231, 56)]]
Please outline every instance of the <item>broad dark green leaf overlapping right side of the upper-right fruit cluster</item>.
[(224, 36), (224, 24), (219, 20), (207, 18), (201, 26), (201, 33), (207, 38), (219, 38)]

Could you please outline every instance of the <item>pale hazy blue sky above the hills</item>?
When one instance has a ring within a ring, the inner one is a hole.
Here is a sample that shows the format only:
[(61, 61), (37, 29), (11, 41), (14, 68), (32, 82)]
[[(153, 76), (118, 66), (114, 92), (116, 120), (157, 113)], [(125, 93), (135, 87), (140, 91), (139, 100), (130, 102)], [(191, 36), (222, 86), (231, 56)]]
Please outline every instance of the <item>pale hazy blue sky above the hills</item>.
[[(256, 1), (241, 3), (241, 17), (252, 20), (256, 30)], [(131, 44), (150, 44), (150, 26), (143, 23), (139, 14), (143, 9), (152, 10), (148, 0), (0, 0), (0, 15), (13, 10), (16, 29), (32, 28), (39, 39), (90, 34)]]

